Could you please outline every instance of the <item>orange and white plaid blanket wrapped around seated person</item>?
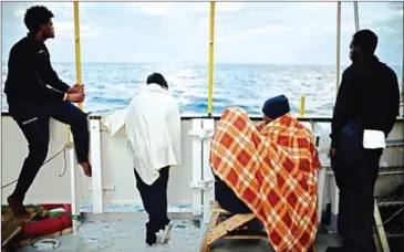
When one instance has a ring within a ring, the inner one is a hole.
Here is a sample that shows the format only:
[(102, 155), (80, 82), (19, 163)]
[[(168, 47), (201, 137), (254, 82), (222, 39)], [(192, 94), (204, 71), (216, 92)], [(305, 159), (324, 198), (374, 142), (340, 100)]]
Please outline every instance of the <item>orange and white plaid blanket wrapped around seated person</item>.
[(241, 108), (227, 108), (210, 166), (265, 224), (276, 251), (309, 250), (318, 228), (320, 161), (310, 130), (290, 113), (256, 126)]

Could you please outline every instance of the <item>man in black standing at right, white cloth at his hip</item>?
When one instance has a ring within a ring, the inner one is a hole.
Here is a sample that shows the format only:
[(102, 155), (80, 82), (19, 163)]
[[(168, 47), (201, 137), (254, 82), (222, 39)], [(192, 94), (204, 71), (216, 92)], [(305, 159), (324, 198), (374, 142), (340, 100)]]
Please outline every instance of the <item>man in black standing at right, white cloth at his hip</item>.
[(338, 218), (343, 246), (327, 251), (374, 251), (374, 185), (385, 138), (398, 115), (400, 91), (394, 71), (374, 55), (377, 36), (356, 32), (352, 64), (342, 74), (332, 118), (331, 164), (340, 189)]

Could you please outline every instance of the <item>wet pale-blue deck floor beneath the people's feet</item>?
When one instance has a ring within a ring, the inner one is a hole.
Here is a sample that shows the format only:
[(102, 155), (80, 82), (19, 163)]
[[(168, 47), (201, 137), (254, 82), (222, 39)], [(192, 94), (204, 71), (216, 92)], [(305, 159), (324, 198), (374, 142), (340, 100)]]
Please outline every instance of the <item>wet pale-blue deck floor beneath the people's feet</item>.
[[(127, 218), (102, 218), (86, 220), (81, 224), (79, 233), (56, 238), (61, 242), (56, 252), (197, 252), (203, 230), (193, 221), (174, 220), (172, 239), (167, 244), (147, 246), (145, 240), (145, 220)], [(338, 245), (331, 234), (319, 234), (317, 251), (323, 252), (329, 245)], [(33, 246), (24, 246), (18, 252), (43, 251)], [(211, 252), (270, 252), (273, 251), (267, 241), (226, 240), (214, 244)]]

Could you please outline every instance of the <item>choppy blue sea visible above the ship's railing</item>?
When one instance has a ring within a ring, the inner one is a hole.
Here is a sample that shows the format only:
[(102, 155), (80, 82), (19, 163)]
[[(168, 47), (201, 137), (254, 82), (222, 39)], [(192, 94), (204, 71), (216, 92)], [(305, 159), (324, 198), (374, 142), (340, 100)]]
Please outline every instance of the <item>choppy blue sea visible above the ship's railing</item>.
[[(344, 67), (341, 67), (341, 73)], [(53, 63), (53, 69), (62, 81), (75, 83), (74, 62)], [(400, 66), (392, 69), (401, 80)], [(3, 62), (2, 87), (7, 71)], [(127, 107), (137, 87), (146, 85), (146, 78), (153, 72), (165, 76), (183, 116), (207, 115), (207, 64), (82, 63), (82, 81), (86, 91), (84, 111), (103, 115)], [(298, 115), (300, 97), (304, 95), (307, 116), (330, 117), (335, 102), (335, 85), (334, 65), (216, 63), (213, 115), (221, 115), (229, 106), (240, 106), (250, 116), (260, 116), (267, 98), (283, 94), (289, 98), (293, 114)], [(3, 93), (1, 99), (1, 111), (8, 112)]]

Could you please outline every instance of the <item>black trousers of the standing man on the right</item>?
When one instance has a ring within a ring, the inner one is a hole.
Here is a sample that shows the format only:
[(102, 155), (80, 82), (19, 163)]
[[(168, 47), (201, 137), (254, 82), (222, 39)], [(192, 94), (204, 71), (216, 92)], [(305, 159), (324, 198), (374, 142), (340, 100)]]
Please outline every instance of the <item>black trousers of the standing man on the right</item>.
[(373, 252), (373, 193), (383, 149), (364, 149), (363, 130), (352, 125), (348, 125), (336, 155), (331, 159), (340, 189), (338, 232), (344, 251)]

